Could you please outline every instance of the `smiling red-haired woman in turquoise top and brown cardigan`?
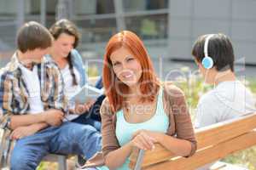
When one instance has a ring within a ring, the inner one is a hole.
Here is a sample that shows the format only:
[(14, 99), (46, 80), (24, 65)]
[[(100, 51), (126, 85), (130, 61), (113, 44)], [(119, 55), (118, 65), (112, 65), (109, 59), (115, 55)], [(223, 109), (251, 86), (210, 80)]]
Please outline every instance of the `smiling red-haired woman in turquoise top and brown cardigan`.
[(105, 166), (96, 169), (129, 169), (132, 148), (154, 150), (155, 143), (177, 156), (192, 156), (196, 141), (183, 92), (160, 83), (140, 38), (131, 31), (117, 33), (108, 42), (104, 60)]

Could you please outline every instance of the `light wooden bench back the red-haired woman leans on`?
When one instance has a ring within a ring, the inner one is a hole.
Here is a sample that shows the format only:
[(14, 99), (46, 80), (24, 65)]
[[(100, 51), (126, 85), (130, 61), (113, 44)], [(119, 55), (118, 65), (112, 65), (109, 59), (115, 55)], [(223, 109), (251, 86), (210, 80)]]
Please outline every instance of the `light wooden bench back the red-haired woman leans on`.
[(197, 129), (197, 150), (195, 155), (189, 158), (175, 156), (160, 144), (156, 144), (152, 151), (134, 149), (130, 157), (130, 168), (192, 170), (255, 145), (255, 128), (256, 113), (252, 113)]

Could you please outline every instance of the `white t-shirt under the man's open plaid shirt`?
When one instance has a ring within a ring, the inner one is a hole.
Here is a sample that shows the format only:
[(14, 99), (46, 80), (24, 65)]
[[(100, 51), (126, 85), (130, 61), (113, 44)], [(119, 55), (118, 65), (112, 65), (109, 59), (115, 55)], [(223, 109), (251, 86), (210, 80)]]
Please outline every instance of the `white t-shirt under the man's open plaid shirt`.
[(40, 82), (38, 78), (38, 67), (34, 66), (32, 71), (20, 65), (20, 70), (28, 90), (29, 114), (38, 114), (44, 111), (44, 104), (41, 99)]

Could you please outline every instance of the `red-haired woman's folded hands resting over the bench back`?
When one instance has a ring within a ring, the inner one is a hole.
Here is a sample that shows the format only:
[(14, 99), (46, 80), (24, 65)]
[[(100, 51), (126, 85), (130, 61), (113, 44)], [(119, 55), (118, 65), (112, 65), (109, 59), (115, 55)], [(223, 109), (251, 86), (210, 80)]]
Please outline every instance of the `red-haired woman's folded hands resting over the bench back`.
[(157, 143), (156, 133), (148, 130), (138, 130), (132, 135), (131, 145), (142, 150), (154, 150), (154, 143)]

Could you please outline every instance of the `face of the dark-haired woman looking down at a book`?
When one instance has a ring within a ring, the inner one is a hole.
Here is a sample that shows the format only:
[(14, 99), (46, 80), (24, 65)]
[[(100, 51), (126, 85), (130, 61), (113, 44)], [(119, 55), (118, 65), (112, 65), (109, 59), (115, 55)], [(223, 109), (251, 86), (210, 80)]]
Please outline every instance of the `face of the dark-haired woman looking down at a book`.
[(60, 36), (53, 42), (55, 54), (60, 57), (67, 57), (73, 49), (75, 37), (66, 33), (61, 33)]

